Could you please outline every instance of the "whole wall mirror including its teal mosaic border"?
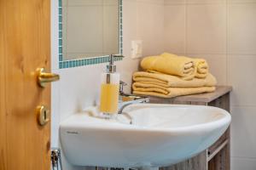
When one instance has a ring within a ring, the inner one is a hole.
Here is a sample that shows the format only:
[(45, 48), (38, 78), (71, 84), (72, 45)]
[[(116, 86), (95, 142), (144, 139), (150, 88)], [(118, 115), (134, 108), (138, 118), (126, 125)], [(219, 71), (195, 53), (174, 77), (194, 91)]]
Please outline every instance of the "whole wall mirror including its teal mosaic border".
[(122, 54), (122, 10), (122, 0), (59, 0), (60, 68), (100, 64), (109, 54)]

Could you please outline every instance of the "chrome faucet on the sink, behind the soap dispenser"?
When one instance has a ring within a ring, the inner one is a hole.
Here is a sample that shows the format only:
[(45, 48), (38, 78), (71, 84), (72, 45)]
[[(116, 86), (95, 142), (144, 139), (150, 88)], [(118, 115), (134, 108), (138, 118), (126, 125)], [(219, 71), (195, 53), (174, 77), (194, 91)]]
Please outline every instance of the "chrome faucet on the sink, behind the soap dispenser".
[(124, 87), (127, 83), (119, 82), (119, 111), (118, 114), (122, 114), (126, 106), (138, 103), (148, 103), (149, 98), (147, 96), (140, 96), (135, 94), (125, 94)]

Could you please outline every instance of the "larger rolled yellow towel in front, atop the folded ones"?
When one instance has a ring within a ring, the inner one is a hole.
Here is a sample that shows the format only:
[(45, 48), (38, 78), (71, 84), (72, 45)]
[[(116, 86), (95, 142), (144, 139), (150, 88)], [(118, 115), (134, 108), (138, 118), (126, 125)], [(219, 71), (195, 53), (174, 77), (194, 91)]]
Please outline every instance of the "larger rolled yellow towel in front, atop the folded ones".
[(175, 54), (161, 54), (160, 56), (145, 57), (141, 66), (145, 71), (157, 71), (191, 80), (195, 77), (195, 63), (193, 59), (178, 57)]

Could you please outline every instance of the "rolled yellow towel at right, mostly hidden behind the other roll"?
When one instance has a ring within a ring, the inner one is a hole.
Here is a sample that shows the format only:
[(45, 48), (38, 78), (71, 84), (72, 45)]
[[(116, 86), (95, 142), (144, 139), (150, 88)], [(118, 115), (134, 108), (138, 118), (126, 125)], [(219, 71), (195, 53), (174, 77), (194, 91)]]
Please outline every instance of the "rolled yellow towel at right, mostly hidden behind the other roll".
[(209, 66), (206, 59), (194, 59), (195, 61), (195, 77), (206, 78), (209, 72)]

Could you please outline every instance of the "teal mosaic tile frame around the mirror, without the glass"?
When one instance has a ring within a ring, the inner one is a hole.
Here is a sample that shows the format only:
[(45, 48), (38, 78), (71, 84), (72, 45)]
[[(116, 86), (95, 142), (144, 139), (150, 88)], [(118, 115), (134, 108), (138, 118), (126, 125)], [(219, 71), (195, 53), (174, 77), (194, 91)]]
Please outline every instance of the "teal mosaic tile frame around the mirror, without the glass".
[[(72, 68), (84, 65), (97, 65), (102, 63), (107, 63), (109, 60), (109, 55), (98, 56), (98, 57), (89, 57), (81, 59), (63, 59), (63, 40), (62, 40), (62, 0), (59, 0), (58, 8), (58, 54), (59, 54), (59, 68)], [(123, 0), (119, 0), (119, 57), (116, 57), (115, 60), (122, 60), (123, 54)]]

